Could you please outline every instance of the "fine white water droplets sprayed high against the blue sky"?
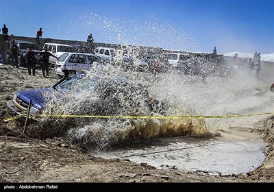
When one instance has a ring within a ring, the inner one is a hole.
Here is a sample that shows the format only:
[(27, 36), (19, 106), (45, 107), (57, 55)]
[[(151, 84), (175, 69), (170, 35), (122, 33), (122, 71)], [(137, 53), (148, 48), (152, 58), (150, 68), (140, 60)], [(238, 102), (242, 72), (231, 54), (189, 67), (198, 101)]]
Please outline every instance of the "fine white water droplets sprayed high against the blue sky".
[[(187, 34), (182, 26), (162, 21), (153, 15), (140, 21), (128, 16), (108, 18), (103, 14), (83, 12), (81, 16), (70, 16), (63, 22), (69, 25), (62, 30), (75, 36), (74, 39), (78, 38), (80, 30), (82, 34), (94, 34), (97, 43), (199, 51), (195, 38)], [(77, 33), (74, 26), (77, 26)]]

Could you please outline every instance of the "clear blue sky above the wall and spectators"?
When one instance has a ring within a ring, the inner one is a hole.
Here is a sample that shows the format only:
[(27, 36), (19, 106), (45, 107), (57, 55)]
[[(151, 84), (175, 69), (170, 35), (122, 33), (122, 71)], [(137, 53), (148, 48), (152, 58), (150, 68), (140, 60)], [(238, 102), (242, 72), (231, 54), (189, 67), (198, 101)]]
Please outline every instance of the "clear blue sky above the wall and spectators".
[(274, 53), (274, 3), (262, 1), (0, 0), (9, 34), (182, 51)]

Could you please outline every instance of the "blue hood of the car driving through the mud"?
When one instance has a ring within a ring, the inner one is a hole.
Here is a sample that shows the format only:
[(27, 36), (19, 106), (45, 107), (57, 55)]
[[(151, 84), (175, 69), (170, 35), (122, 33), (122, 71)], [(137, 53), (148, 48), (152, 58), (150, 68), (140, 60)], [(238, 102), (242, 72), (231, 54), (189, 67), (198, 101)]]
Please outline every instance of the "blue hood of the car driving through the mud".
[(16, 95), (27, 104), (29, 104), (30, 99), (32, 99), (32, 106), (42, 109), (45, 107), (45, 101), (50, 99), (50, 95), (53, 91), (55, 91), (53, 88), (33, 88), (25, 91), (18, 91)]

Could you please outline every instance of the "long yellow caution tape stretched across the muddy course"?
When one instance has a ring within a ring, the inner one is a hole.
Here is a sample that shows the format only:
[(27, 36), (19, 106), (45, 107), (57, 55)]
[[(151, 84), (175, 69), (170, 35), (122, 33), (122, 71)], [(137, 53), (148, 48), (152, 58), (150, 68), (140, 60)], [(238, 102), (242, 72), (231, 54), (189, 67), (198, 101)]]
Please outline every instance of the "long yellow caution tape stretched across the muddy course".
[[(230, 117), (249, 117), (249, 116), (258, 116), (258, 115), (271, 115), (274, 112), (264, 112), (264, 113), (256, 113), (256, 114), (247, 114), (247, 115), (206, 115), (206, 116), (125, 116), (125, 115), (46, 115), (40, 114), (36, 115), (38, 117), (81, 117), (81, 118), (115, 118), (115, 119), (208, 119), (208, 118), (230, 118)], [(27, 115), (17, 115), (14, 117), (3, 119), (3, 121), (12, 121), (14, 119), (18, 119), (21, 117), (26, 117)]]

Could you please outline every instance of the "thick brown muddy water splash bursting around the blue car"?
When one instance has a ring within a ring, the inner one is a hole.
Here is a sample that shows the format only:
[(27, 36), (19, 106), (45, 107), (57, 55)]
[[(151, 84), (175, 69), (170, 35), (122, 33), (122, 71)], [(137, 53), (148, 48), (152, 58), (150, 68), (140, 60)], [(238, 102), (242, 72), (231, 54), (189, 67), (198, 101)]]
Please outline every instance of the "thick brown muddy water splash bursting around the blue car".
[[(105, 69), (110, 68), (106, 67)], [(101, 69), (99, 71), (92, 70), (89, 71), (85, 78), (92, 79), (95, 75), (99, 75), (101, 73)], [(111, 78), (117, 77), (116, 75), (118, 74), (127, 76), (129, 80), (134, 82), (140, 82), (147, 86), (149, 85), (149, 82), (137, 80), (132, 77), (133, 75), (129, 76), (130, 73), (121, 71), (121, 69), (117, 69), (116, 72), (112, 70), (112, 73), (108, 73)], [(47, 101), (45, 113), (55, 115), (161, 115), (155, 112), (151, 113), (145, 104), (145, 97), (143, 97), (144, 95), (134, 91), (134, 88), (130, 89), (130, 91), (133, 91), (132, 94), (123, 95), (125, 91), (123, 91), (121, 87), (118, 89), (117, 87), (114, 87), (114, 92), (108, 92), (108, 94), (105, 94), (105, 91), (109, 90), (111, 86), (111, 84), (108, 84), (108, 88), (102, 86), (103, 89), (99, 88), (97, 93), (95, 93), (88, 88), (82, 88), (79, 90), (79, 87), (82, 87), (82, 85), (75, 84), (70, 91), (64, 92), (62, 95), (59, 93), (51, 94), (49, 101)], [(103, 100), (102, 95), (104, 97)], [(153, 96), (156, 97), (157, 95)], [(98, 98), (100, 98), (100, 100), (98, 100)], [(65, 104), (64, 101), (66, 101)], [(169, 102), (167, 99), (166, 101)], [(119, 104), (119, 107), (117, 108), (117, 105), (113, 104)], [(173, 105), (174, 104), (172, 103), (169, 104), (166, 110), (167, 116), (184, 116), (186, 114), (195, 115), (194, 110), (186, 112), (182, 108), (177, 108)], [(108, 106), (108, 108), (105, 108), (105, 106)], [(54, 118), (51, 117), (44, 118), (41, 122), (49, 122), (53, 121), (53, 119)], [(69, 130), (69, 138), (73, 141), (73, 143), (77, 143), (83, 149), (90, 149), (94, 147), (99, 147), (102, 149), (105, 147), (113, 147), (115, 145), (123, 145), (123, 143), (127, 143), (127, 145), (129, 145), (129, 143), (137, 143), (160, 137), (182, 136), (206, 132), (206, 123), (204, 119), (175, 120), (73, 118), (73, 120), (59, 119), (54, 122), (56, 123), (55, 126), (65, 128), (64, 130)]]

